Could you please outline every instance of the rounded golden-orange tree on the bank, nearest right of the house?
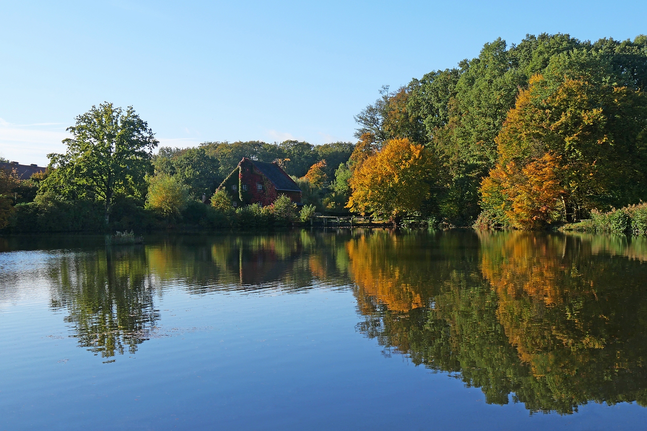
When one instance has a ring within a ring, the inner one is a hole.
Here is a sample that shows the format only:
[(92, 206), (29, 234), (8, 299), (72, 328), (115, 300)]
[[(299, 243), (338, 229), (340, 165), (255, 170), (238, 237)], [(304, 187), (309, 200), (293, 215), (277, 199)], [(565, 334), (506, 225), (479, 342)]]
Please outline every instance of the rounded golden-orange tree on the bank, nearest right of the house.
[(398, 223), (428, 199), (431, 173), (432, 158), (424, 146), (408, 138), (388, 140), (353, 171), (346, 208)]

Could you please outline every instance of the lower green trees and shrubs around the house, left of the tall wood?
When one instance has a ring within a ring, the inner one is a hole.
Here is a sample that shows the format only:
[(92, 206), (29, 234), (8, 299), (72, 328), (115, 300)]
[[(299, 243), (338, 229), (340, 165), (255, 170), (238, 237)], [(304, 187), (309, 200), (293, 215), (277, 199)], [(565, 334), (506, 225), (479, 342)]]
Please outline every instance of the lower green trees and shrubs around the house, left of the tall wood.
[[(287, 140), (204, 142), (157, 148), (159, 141), (132, 107), (105, 102), (67, 129), (65, 153), (52, 153), (45, 173), (19, 180), (0, 172), (0, 229), (9, 232), (151, 230), (290, 225), (314, 211), (344, 211), (335, 181), (345, 178), (351, 142), (313, 146)], [(300, 184), (305, 212), (289, 198), (262, 208), (233, 208), (214, 193), (243, 157), (276, 161)], [(341, 168), (340, 168), (341, 166)], [(345, 184), (345, 182), (344, 182)], [(347, 186), (346, 186), (347, 188)], [(334, 199), (340, 201), (334, 206)], [(333, 202), (333, 204), (331, 204)]]

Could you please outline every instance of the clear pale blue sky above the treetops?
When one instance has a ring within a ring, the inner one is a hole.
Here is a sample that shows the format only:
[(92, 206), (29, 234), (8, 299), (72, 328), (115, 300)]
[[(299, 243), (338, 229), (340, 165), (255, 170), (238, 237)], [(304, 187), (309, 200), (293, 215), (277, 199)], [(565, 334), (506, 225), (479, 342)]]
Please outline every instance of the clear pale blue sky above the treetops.
[(647, 1), (0, 1), (0, 155), (47, 164), (104, 101), (164, 146), (353, 140), (382, 85), (541, 32), (633, 39)]

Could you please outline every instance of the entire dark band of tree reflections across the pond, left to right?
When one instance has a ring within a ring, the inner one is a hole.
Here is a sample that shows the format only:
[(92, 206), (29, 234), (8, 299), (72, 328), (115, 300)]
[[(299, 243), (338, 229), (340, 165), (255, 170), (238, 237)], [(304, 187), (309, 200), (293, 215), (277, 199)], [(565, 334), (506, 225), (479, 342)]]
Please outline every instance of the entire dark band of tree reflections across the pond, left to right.
[(562, 414), (589, 401), (647, 405), (644, 238), (300, 231), (52, 254), (52, 307), (102, 357), (134, 353), (154, 335), (154, 297), (165, 289), (325, 285), (353, 289), (357, 329), (384, 355), (452, 373), (488, 403)]

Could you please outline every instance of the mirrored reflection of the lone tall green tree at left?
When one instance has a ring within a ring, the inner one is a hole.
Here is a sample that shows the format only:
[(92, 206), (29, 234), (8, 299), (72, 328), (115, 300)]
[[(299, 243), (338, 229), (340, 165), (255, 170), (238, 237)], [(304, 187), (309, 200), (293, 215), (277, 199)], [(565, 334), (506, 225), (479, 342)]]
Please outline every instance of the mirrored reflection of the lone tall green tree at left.
[(79, 344), (102, 357), (130, 353), (158, 318), (142, 247), (65, 254), (50, 268), (52, 305), (67, 308)]

